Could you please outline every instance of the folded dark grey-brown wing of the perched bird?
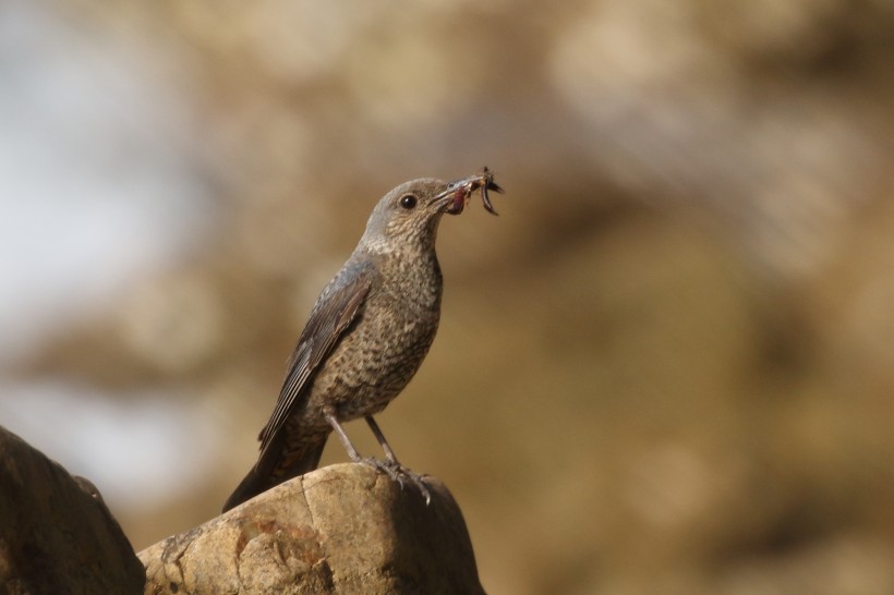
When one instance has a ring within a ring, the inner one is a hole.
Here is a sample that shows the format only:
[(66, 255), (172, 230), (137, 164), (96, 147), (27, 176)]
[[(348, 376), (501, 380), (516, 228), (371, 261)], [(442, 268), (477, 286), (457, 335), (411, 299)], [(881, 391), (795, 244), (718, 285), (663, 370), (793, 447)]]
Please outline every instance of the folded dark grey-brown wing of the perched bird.
[(261, 430), (261, 458), (277, 434), (282, 429), (289, 415), (306, 399), (307, 380), (314, 375), (321, 363), (331, 352), (333, 347), (360, 311), (373, 282), (373, 270), (361, 266), (342, 270), (319, 296), (311, 312), (307, 325), (301, 332), (292, 356), (289, 359), (288, 373), (279, 392), (270, 420)]

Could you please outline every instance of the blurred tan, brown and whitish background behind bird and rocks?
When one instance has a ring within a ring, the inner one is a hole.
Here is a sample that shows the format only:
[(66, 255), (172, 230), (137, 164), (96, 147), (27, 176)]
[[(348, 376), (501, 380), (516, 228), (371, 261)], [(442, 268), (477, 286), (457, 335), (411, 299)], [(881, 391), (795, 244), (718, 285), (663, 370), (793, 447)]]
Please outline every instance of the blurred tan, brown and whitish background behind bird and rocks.
[(379, 424), (488, 593), (894, 593), (892, 71), (884, 0), (7, 0), (0, 424), (204, 522), (378, 197), (487, 165)]

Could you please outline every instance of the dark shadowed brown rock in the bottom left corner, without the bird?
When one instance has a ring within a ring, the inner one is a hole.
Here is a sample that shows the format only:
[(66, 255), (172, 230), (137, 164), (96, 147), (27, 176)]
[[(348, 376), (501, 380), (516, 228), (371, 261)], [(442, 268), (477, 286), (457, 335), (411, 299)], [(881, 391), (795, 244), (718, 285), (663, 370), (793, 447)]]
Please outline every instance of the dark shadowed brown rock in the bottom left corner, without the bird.
[(144, 582), (96, 487), (0, 427), (0, 593), (137, 594)]

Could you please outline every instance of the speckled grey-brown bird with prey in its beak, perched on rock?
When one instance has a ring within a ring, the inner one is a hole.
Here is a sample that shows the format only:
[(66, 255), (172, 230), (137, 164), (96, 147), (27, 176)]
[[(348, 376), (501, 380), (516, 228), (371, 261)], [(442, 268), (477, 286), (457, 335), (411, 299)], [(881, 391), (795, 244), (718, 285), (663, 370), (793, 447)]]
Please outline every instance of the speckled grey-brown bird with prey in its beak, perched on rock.
[[(270, 420), (261, 430), (261, 456), (224, 505), (224, 511), (316, 469), (335, 430), (348, 457), (403, 484), (422, 478), (402, 466), (373, 420), (407, 386), (428, 352), (440, 318), (442, 275), (435, 236), (442, 216), (462, 211), (471, 192), (502, 192), (493, 174), (445, 183), (406, 182), (375, 206), (348, 262), (317, 298)], [(341, 426), (365, 417), (385, 460), (362, 458)]]

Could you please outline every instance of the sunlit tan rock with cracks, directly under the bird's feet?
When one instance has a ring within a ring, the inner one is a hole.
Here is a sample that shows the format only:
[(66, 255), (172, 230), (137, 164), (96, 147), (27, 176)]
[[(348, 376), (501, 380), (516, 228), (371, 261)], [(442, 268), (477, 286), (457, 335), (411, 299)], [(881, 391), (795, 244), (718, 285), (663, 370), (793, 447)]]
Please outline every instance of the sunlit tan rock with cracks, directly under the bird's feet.
[(483, 594), (462, 514), (363, 464), (297, 477), (138, 554), (146, 595)]

